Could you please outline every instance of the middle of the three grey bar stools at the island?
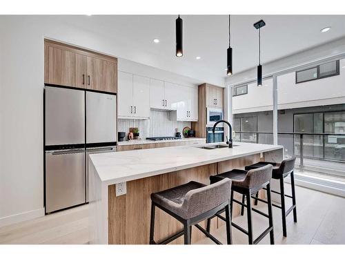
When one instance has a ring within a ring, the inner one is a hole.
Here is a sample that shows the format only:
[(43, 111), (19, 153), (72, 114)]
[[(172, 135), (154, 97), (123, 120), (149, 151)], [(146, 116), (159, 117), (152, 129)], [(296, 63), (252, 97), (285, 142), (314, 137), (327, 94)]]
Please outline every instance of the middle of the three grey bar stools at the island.
[[(242, 231), (246, 235), (248, 235), (248, 242), (249, 244), (257, 244), (264, 238), (268, 233), (270, 233), (270, 244), (275, 243), (274, 233), (273, 233), (273, 214), (272, 214), (272, 203), (270, 200), (270, 179), (272, 178), (272, 165), (266, 165), (259, 169), (253, 169), (250, 171), (240, 170), (240, 169), (233, 169), (226, 173), (221, 173), (219, 175), (210, 176), (210, 182), (213, 184), (224, 178), (230, 178), (233, 182), (231, 187), (231, 198), (230, 198), (230, 213), (233, 214), (233, 202), (236, 202), (244, 207), (247, 208), (247, 218), (248, 218), (248, 231), (243, 229), (239, 225), (232, 222), (231, 224), (233, 227)], [(267, 199), (268, 199), (268, 215), (259, 211), (257, 209), (252, 208), (250, 204), (250, 196), (253, 193), (257, 193), (260, 189), (264, 189), (266, 187), (267, 190)], [(239, 202), (238, 200), (234, 199), (234, 191), (237, 193), (241, 193), (245, 195), (247, 198), (247, 204), (244, 202)], [(253, 220), (252, 220), (252, 211), (259, 213), (260, 215), (264, 215), (268, 218), (268, 228), (259, 235), (258, 238), (253, 240)], [(220, 218), (221, 220), (226, 220), (220, 213), (223, 211), (219, 211), (215, 216)], [(211, 217), (213, 218), (213, 217)], [(207, 228), (206, 230), (210, 231), (210, 220), (208, 219)]]

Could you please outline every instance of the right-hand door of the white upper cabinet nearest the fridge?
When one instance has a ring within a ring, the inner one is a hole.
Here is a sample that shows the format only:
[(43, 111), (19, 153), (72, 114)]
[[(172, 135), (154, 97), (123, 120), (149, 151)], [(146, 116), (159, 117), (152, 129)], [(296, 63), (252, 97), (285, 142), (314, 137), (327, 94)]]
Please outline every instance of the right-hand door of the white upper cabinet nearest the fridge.
[(150, 117), (150, 79), (133, 75), (133, 117)]

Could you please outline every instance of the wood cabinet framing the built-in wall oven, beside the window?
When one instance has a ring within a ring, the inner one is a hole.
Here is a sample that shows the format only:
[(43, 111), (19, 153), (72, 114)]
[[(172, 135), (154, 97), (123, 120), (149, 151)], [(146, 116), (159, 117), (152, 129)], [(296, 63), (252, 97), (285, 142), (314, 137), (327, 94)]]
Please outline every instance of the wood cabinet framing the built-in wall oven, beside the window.
[(207, 108), (223, 108), (224, 88), (212, 84), (201, 84), (198, 87), (198, 121), (192, 122), (195, 137), (206, 138)]

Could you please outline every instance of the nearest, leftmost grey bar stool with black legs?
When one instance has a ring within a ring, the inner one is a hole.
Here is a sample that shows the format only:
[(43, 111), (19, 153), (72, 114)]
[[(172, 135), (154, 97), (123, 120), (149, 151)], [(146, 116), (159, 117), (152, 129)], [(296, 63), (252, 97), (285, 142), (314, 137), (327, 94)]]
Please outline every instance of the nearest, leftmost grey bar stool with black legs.
[[(184, 235), (184, 244), (190, 244), (193, 225), (213, 242), (221, 244), (219, 240), (210, 235), (209, 231), (197, 224), (215, 215), (219, 210), (226, 211), (226, 238), (228, 244), (231, 244), (230, 190), (231, 180), (224, 179), (207, 186), (192, 181), (165, 191), (152, 193), (150, 244), (168, 244), (182, 235)], [(179, 220), (184, 225), (184, 230), (160, 242), (155, 242), (155, 207)]]

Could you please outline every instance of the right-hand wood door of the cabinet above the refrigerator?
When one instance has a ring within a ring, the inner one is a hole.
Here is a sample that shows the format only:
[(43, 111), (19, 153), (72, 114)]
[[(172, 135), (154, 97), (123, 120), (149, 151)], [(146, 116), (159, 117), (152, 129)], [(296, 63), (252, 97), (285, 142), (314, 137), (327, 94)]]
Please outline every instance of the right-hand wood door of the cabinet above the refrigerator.
[(88, 89), (110, 93), (117, 92), (116, 62), (97, 57), (86, 57), (86, 70), (88, 72)]

